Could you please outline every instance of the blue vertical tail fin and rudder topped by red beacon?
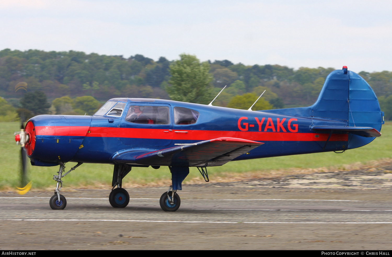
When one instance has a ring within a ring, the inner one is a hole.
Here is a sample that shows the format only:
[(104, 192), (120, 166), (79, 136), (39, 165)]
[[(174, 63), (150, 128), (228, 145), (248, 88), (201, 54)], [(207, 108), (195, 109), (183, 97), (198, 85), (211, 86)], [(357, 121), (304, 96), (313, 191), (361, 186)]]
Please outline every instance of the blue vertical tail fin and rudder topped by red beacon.
[[(313, 129), (350, 133), (347, 149), (370, 143), (381, 135), (379, 131), (384, 124), (384, 113), (380, 110), (376, 94), (365, 79), (347, 70), (347, 66), (328, 75), (312, 106), (265, 112), (316, 118)], [(326, 120), (337, 124), (327, 128), (330, 122)]]

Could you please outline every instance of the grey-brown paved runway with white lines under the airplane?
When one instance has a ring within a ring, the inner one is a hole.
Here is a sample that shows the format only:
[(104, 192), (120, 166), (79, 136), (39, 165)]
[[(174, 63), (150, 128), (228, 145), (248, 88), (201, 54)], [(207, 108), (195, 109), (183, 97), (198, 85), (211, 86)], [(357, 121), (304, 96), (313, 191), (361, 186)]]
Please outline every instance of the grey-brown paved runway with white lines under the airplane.
[(391, 248), (391, 189), (249, 186), (247, 182), (185, 185), (181, 207), (163, 212), (163, 187), (127, 189), (125, 208), (110, 189), (0, 193), (0, 248), (12, 250), (186, 250)]

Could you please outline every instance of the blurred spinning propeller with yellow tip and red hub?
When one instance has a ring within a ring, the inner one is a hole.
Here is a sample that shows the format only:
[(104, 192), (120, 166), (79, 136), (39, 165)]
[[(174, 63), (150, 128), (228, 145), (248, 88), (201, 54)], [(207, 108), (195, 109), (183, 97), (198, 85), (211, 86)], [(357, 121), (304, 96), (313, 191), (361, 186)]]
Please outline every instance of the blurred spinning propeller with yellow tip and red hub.
[[(32, 182), (27, 182), (27, 164), (28, 164), (28, 157), (27, 157), (27, 148), (31, 140), (30, 133), (25, 132), (25, 127), (23, 126), (24, 122), (24, 115), (21, 115), (20, 118), (20, 131), (16, 131), (15, 141), (17, 145), (20, 145), (20, 183), (21, 187), (16, 187), (18, 194), (25, 194), (29, 192), (31, 189)], [(29, 124), (29, 123), (28, 123)], [(26, 128), (27, 125), (26, 124)]]

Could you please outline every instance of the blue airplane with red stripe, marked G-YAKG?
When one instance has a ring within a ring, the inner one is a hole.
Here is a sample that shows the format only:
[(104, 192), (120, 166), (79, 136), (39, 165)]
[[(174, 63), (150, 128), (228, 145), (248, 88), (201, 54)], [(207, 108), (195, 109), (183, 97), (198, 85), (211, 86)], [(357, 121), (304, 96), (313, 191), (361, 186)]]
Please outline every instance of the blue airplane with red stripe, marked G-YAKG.
[[(109, 202), (129, 203), (122, 179), (132, 167), (168, 166), (172, 185), (164, 211), (180, 207), (189, 167), (206, 181), (207, 167), (271, 156), (345, 151), (381, 136), (384, 113), (368, 83), (346, 66), (331, 72), (309, 107), (238, 110), (160, 99), (115, 98), (94, 115), (38, 115), (16, 135), (34, 166), (60, 165), (52, 209), (64, 209), (62, 178), (83, 163), (113, 164)], [(65, 173), (65, 163), (77, 163)]]

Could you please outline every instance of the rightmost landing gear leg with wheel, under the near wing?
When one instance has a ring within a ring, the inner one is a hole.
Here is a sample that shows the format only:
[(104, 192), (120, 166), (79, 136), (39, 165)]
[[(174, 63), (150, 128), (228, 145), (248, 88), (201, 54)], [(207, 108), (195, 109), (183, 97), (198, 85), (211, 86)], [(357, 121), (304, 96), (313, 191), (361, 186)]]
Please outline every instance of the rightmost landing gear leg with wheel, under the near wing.
[(182, 182), (189, 174), (189, 167), (169, 166), (172, 174), (172, 185), (167, 192), (164, 192), (159, 199), (159, 205), (165, 212), (175, 212), (180, 208), (181, 199), (177, 190), (182, 189)]

